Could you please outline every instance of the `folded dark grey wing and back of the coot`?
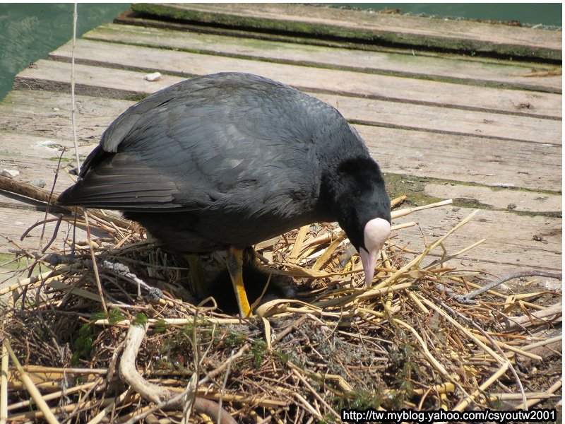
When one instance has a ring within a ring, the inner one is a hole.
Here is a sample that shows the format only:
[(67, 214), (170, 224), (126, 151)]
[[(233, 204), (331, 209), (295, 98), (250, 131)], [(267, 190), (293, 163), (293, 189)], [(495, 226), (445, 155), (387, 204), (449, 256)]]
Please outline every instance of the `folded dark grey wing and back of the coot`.
[(335, 112), (257, 76), (184, 81), (109, 126), (59, 202), (123, 211), (222, 208), (239, 216), (275, 208), (284, 218), (316, 202), (313, 134), (323, 125), (321, 110)]

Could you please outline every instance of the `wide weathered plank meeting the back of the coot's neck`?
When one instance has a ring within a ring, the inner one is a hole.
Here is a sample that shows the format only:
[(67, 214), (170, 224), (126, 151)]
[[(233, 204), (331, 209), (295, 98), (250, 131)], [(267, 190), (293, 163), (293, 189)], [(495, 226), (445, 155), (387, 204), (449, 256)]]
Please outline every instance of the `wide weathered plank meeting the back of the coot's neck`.
[[(78, 95), (77, 102), (78, 138), (85, 150), (93, 148), (107, 125), (133, 104), (82, 95)], [(561, 146), (379, 126), (355, 127), (386, 172), (498, 187), (554, 192), (561, 189)], [(6, 154), (11, 151), (11, 155), (25, 155), (44, 140), (71, 146), (69, 95), (13, 91), (0, 102), (0, 128), (11, 131), (8, 136), (0, 134), (0, 146), (6, 146)], [(38, 139), (23, 141), (14, 135), (16, 131)], [(52, 152), (47, 157), (54, 159), (57, 155)], [(73, 160), (73, 152), (65, 157)], [(38, 166), (30, 166), (26, 172)]]

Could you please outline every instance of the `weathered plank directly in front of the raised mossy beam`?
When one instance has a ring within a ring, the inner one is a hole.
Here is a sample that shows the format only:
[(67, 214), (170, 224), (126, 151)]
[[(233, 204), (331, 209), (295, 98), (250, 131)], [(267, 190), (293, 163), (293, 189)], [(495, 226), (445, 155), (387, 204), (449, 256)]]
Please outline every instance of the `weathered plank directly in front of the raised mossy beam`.
[(561, 93), (561, 66), (438, 56), (429, 52), (396, 50), (368, 52), (292, 42), (266, 41), (187, 33), (159, 28), (108, 23), (83, 38), (137, 46), (181, 49), (241, 59), (278, 61), (302, 66), (331, 67), (436, 81)]

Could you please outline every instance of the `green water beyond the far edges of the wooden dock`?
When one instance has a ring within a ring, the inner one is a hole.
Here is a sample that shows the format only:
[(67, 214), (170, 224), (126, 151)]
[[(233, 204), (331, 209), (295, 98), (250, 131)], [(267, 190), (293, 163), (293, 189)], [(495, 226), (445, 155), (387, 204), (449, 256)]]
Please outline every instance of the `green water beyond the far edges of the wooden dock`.
[[(338, 4), (334, 4), (338, 5)], [(343, 4), (342, 4), (343, 5)], [(400, 8), (404, 13), (461, 16), (472, 19), (518, 20), (530, 25), (561, 26), (561, 3), (553, 4), (347, 4), (376, 10)], [(78, 36), (112, 22), (121, 4), (79, 4)], [(16, 73), (71, 40), (73, 4), (0, 4), (0, 99), (11, 90)]]

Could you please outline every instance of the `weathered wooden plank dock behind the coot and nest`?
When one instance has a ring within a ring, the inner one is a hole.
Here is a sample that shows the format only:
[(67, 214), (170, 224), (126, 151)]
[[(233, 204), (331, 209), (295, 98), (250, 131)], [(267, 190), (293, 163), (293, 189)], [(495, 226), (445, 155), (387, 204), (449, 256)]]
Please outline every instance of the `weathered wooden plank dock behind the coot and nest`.
[[(76, 42), (81, 155), (145, 95), (191, 76), (256, 73), (338, 107), (393, 196), (454, 199), (411, 216), (420, 227), (398, 245), (420, 249), (479, 208), (446, 248), (487, 241), (454, 265), (561, 270), (561, 32), (288, 4), (133, 7)], [(0, 103), (0, 170), (45, 190), (62, 148), (73, 160), (71, 50), (30, 64)], [(155, 71), (160, 81), (143, 79)], [(54, 192), (70, 184), (60, 173)], [(37, 250), (41, 228), (19, 239), (44, 215), (42, 202), (0, 191), (0, 235), (20, 247)], [(0, 238), (3, 262), (13, 249)]]

